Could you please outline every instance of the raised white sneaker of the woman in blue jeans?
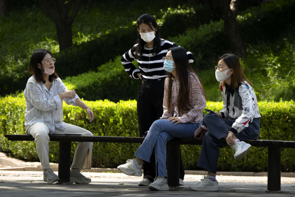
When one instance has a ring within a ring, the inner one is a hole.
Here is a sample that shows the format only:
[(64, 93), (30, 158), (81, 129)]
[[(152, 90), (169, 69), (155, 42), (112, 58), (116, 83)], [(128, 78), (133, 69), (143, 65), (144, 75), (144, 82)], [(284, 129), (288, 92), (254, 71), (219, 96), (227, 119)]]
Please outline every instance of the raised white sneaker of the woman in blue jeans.
[(129, 176), (142, 176), (142, 163), (138, 165), (135, 159), (128, 159), (125, 164), (117, 167), (118, 170)]

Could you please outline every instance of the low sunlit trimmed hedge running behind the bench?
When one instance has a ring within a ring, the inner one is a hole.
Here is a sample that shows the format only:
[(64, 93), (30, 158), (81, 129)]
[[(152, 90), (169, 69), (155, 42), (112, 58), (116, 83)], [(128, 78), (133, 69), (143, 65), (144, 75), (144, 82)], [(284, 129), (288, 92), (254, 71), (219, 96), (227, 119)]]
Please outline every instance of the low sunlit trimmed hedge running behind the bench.
[[(91, 131), (94, 135), (138, 136), (136, 101), (113, 103), (104, 101), (85, 101), (95, 114), (92, 123), (79, 107), (64, 105), (64, 121)], [(295, 102), (259, 102), (262, 115), (259, 139), (295, 140), (293, 132), (295, 122)], [(207, 108), (218, 111), (220, 102), (207, 102)], [(25, 99), (7, 96), (0, 98), (0, 149), (19, 159), (38, 161), (33, 142), (7, 141), (5, 134), (24, 134)], [(206, 112), (204, 112), (206, 113)], [(72, 153), (76, 148), (73, 143)], [(94, 143), (92, 167), (116, 167), (126, 159), (133, 158), (139, 144), (128, 143)], [(50, 162), (58, 161), (58, 142), (49, 143)], [(182, 145), (185, 169), (199, 170), (196, 167), (201, 146)], [(295, 149), (284, 148), (281, 151), (281, 170), (295, 171)], [(73, 157), (73, 154), (72, 154)], [(222, 148), (218, 161), (218, 171), (267, 171), (267, 148), (252, 147), (242, 161), (236, 161), (230, 147)]]

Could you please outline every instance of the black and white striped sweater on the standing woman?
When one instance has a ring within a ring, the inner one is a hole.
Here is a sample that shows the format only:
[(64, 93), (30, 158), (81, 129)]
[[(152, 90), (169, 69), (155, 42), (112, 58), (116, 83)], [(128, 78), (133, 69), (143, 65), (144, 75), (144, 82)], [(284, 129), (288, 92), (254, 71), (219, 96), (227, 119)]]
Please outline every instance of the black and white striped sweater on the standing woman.
[[(147, 48), (144, 46), (141, 60), (135, 59), (134, 57), (136, 45), (137, 44), (135, 44), (121, 58), (124, 69), (129, 76), (138, 79), (139, 77), (137, 76), (137, 73), (140, 73), (145, 79), (159, 79), (166, 77), (167, 75), (163, 67), (162, 58), (166, 56), (168, 49), (178, 45), (168, 39), (164, 39), (161, 41), (161, 50), (156, 55), (152, 54), (153, 47)], [(190, 63), (194, 61), (194, 55), (191, 52), (187, 51), (187, 57)], [(134, 60), (138, 62), (138, 68), (132, 63)]]

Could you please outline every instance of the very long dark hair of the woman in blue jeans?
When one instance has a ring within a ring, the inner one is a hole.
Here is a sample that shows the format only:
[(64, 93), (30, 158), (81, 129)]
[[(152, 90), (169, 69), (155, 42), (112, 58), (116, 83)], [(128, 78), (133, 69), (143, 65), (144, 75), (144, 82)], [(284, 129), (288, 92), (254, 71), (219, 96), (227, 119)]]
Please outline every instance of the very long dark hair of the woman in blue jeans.
[[(191, 106), (189, 101), (190, 90), (188, 87), (188, 83), (189, 83), (188, 71), (191, 71), (193, 73), (195, 73), (195, 71), (192, 69), (191, 64), (188, 61), (187, 52), (184, 48), (178, 46), (178, 47), (173, 47), (170, 50), (173, 57), (173, 61), (176, 66), (175, 69), (176, 69), (177, 78), (179, 80), (179, 93), (177, 95), (176, 102), (177, 102), (177, 109), (180, 115), (183, 111), (189, 110), (189, 107), (193, 107)], [(170, 107), (171, 107), (171, 94), (172, 94), (172, 76), (173, 76), (172, 73), (168, 72), (167, 78), (169, 80), (168, 80), (168, 87), (166, 92), (168, 111), (171, 110)], [(205, 90), (203, 88), (203, 84), (198, 75), (197, 77), (202, 87), (204, 96), (207, 99)]]

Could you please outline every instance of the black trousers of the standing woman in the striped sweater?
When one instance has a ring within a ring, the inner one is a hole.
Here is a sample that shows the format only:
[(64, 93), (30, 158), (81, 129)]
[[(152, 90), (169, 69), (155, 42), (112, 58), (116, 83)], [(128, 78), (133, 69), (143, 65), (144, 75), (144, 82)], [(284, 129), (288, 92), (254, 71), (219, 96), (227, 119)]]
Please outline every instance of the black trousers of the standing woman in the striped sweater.
[[(140, 86), (137, 98), (137, 118), (140, 137), (148, 131), (151, 124), (163, 115), (164, 79), (144, 80)], [(181, 153), (180, 153), (181, 155)], [(155, 152), (151, 155), (150, 162), (144, 162), (144, 178), (154, 181), (156, 176)], [(180, 156), (179, 178), (184, 179), (183, 162)]]

